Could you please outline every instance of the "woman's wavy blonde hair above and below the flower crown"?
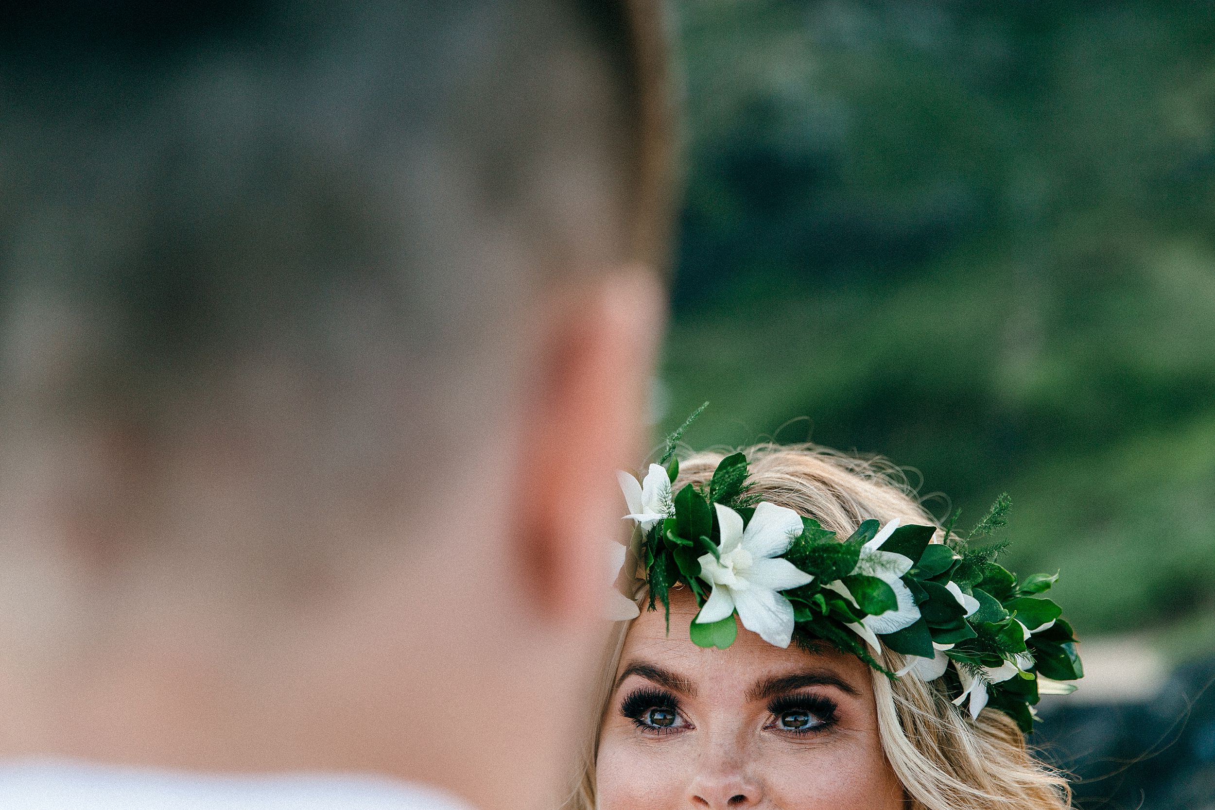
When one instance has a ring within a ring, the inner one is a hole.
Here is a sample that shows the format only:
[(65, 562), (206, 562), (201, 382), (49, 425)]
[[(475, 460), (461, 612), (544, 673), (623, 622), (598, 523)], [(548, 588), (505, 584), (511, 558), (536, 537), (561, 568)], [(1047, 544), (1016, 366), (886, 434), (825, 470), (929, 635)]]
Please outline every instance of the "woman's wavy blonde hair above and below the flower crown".
[[(813, 517), (847, 537), (868, 519), (936, 521), (914, 498), (900, 471), (880, 459), (849, 458), (812, 444), (747, 448), (752, 492), (763, 500)], [(707, 483), (720, 453), (697, 453), (679, 464), (677, 488)], [(943, 532), (942, 532), (943, 534)], [(943, 539), (940, 534), (934, 542)], [(566, 810), (594, 810), (599, 725), (611, 697), (631, 622), (621, 622), (606, 650), (598, 684), (592, 733)], [(903, 665), (887, 652), (886, 664)], [(978, 720), (954, 707), (943, 680), (874, 672), (874, 697), (882, 749), (903, 784), (910, 810), (1067, 810), (1072, 791), (1057, 771), (1036, 760), (1016, 723), (995, 709)]]

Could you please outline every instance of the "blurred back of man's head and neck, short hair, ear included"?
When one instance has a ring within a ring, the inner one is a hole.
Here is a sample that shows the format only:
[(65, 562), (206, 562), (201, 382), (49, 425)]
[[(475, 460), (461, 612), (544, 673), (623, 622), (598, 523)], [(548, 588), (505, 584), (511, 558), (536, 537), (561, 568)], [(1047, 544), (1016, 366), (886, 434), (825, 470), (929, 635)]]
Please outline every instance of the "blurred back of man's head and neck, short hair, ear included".
[(660, 329), (625, 5), (0, 11), (4, 750), (548, 778)]

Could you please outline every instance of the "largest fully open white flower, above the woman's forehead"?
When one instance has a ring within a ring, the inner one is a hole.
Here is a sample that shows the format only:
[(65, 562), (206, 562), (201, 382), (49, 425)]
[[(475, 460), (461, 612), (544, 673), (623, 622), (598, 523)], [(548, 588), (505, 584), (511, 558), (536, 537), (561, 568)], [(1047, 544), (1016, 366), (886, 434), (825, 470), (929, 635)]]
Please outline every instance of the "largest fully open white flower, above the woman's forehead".
[(792, 509), (762, 503), (756, 506), (746, 531), (742, 517), (722, 504), (717, 525), (722, 529), (720, 560), (712, 554), (700, 557), (700, 578), (713, 587), (696, 622), (719, 622), (735, 610), (742, 627), (768, 644), (787, 647), (793, 638), (793, 606), (778, 594), (814, 579), (778, 555), (802, 533), (802, 519)]

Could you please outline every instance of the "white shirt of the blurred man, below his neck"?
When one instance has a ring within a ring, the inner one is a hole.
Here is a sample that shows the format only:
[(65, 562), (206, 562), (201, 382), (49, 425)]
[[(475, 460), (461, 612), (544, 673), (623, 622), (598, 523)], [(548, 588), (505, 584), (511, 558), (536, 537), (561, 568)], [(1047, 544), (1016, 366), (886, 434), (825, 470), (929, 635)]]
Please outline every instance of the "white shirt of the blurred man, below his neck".
[(371, 776), (203, 775), (74, 761), (0, 761), (0, 808), (22, 810), (468, 810)]

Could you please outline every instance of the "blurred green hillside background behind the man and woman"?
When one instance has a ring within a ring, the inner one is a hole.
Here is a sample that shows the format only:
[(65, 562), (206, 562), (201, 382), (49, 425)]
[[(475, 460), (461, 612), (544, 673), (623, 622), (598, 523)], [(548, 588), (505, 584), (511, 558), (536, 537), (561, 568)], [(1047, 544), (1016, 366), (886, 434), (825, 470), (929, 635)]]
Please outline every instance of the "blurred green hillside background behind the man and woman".
[(1215, 650), (1215, 4), (676, 10), (660, 426), (1007, 491), (1081, 635)]

